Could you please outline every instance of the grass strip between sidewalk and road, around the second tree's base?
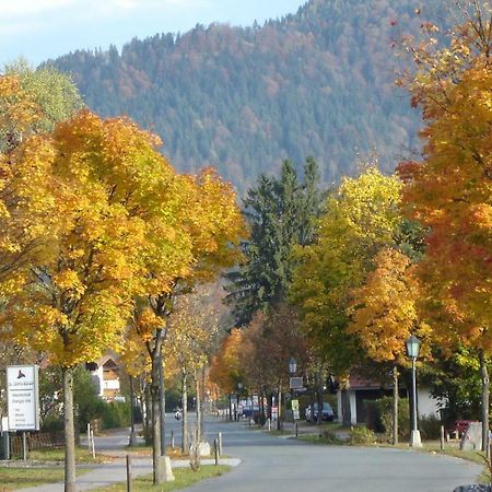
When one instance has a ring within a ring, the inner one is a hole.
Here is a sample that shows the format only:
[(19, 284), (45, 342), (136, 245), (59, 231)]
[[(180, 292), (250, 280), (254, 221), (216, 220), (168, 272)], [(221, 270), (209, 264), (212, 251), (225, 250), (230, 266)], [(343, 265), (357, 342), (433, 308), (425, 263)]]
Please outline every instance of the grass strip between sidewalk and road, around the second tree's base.
[[(152, 484), (152, 475), (148, 475), (144, 477), (139, 477), (133, 479), (131, 490), (133, 492), (163, 492), (171, 490), (179, 490), (185, 489), (187, 487), (191, 487), (194, 483), (197, 483), (201, 480), (220, 477), (225, 472), (230, 471), (231, 467), (221, 465), (221, 466), (202, 466), (198, 471), (192, 471), (190, 468), (176, 468), (173, 470), (174, 482), (166, 482), (162, 485), (154, 487)], [(116, 483), (112, 487), (104, 487), (102, 489), (94, 489), (94, 492), (126, 492), (127, 484), (125, 482)]]

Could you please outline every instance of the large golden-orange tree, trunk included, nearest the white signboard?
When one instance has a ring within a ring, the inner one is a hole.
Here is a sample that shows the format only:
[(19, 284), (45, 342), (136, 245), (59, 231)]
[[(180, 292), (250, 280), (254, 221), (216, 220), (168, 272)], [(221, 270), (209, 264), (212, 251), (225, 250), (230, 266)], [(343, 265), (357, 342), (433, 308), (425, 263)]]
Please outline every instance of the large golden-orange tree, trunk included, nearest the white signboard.
[[(175, 173), (155, 144), (126, 119), (82, 112), (9, 155), (16, 197), (10, 220), (36, 247), (2, 280), (9, 286), (2, 336), (43, 351), (62, 370), (69, 492), (74, 367), (118, 347), (142, 292), (144, 259), (165, 256), (166, 273), (183, 271), (180, 254), (172, 255), (180, 247), (171, 227)], [(151, 241), (155, 230), (160, 244)]]

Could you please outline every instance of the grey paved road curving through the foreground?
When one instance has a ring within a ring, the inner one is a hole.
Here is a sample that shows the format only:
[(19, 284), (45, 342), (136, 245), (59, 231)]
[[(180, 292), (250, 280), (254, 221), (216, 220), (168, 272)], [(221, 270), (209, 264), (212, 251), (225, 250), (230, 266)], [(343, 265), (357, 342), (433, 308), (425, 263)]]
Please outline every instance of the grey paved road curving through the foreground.
[(251, 431), (241, 423), (208, 424), (222, 430), (224, 453), (242, 465), (201, 482), (200, 492), (452, 492), (476, 482), (481, 467), (458, 458), (389, 448), (317, 446)]

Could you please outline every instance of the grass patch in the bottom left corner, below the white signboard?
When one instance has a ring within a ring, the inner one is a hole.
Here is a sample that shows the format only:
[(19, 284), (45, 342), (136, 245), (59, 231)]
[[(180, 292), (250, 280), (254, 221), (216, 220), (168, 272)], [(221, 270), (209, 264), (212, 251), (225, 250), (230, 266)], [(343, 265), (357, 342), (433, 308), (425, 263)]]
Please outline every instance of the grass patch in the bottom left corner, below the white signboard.
[[(89, 468), (77, 470), (77, 476), (90, 471)], [(0, 492), (24, 489), (27, 487), (44, 485), (47, 483), (62, 482), (62, 467), (1, 467), (0, 466)]]

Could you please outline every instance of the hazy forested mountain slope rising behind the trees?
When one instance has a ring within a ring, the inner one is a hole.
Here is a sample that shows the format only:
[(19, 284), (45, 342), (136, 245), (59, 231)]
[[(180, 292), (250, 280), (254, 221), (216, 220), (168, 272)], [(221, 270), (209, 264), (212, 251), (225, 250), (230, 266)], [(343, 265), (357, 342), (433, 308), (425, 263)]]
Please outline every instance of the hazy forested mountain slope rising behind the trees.
[(157, 132), (183, 172), (212, 164), (244, 191), (283, 159), (302, 167), (313, 155), (330, 183), (359, 156), (375, 151), (390, 169), (419, 147), (390, 45), (448, 3), (311, 0), (262, 26), (197, 25), (48, 63), (72, 73), (97, 113)]

